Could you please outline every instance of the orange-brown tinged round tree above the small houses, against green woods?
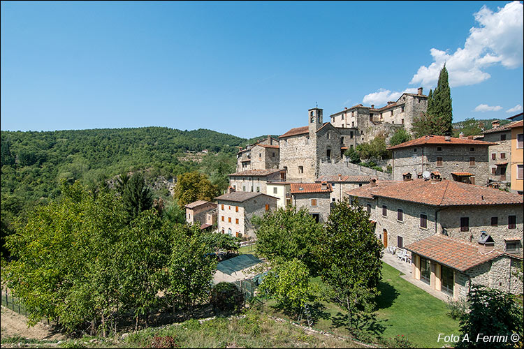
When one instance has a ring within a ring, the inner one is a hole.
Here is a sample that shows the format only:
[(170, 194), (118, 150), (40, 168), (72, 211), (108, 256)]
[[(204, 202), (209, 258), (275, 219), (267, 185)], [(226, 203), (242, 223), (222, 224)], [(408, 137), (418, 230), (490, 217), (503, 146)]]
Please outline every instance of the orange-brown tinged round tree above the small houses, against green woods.
[(217, 187), (211, 184), (205, 174), (187, 172), (180, 174), (175, 186), (175, 200), (179, 207), (184, 207), (196, 200), (211, 201), (219, 194)]

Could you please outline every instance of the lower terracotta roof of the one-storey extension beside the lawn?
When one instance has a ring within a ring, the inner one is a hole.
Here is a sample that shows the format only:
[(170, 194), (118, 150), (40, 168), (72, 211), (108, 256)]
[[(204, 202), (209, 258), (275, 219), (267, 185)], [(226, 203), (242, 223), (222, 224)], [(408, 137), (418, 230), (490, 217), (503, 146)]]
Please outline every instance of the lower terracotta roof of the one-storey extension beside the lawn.
[(504, 255), (504, 253), (492, 250), (488, 253), (480, 253), (479, 246), (452, 239), (445, 235), (433, 235), (425, 239), (405, 246), (408, 251), (429, 260), (435, 260), (442, 265), (465, 272), (476, 265), (481, 265), (489, 260)]

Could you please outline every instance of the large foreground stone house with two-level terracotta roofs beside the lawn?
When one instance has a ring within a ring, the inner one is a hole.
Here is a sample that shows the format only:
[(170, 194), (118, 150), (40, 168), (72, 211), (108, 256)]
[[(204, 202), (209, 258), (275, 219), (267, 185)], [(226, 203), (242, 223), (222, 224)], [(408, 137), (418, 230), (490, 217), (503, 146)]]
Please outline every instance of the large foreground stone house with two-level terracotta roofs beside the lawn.
[[(412, 251), (412, 262), (419, 268), (413, 273), (415, 279), (420, 280), (422, 273), (435, 290), (455, 298), (464, 295), (464, 275), (489, 279), (486, 285), (500, 282), (501, 289), (518, 291), (508, 269), (499, 266), (515, 266), (523, 256), (520, 195), (457, 181), (423, 179), (372, 181), (347, 191), (347, 195), (370, 212), (384, 247)], [(446, 245), (443, 241), (450, 242)], [(480, 247), (476, 246), (479, 241)], [(431, 253), (422, 249), (426, 244), (432, 246)], [(469, 245), (475, 248), (465, 247)], [(490, 254), (489, 258), (484, 254)], [(497, 259), (490, 258), (492, 255)], [(477, 259), (479, 264), (474, 262)], [(492, 261), (498, 264), (490, 265)], [(476, 269), (472, 268), (479, 265), (483, 265), (479, 267), (483, 272), (474, 274)]]

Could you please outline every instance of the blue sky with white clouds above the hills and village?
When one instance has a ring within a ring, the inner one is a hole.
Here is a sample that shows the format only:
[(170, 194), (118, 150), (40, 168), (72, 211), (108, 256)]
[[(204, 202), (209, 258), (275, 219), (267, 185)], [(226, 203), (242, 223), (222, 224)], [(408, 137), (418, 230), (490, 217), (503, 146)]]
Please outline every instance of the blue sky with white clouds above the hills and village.
[(1, 2), (1, 129), (245, 138), (435, 88), (453, 120), (522, 111), (522, 1)]

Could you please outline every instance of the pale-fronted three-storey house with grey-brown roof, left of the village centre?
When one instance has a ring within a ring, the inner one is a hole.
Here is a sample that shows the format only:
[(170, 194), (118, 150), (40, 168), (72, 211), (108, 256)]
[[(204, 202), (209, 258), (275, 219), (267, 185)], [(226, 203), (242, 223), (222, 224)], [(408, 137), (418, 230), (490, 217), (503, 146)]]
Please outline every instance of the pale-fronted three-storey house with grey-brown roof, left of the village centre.
[(217, 198), (218, 231), (222, 234), (256, 239), (252, 218), (277, 209), (277, 198), (264, 193), (232, 191)]

